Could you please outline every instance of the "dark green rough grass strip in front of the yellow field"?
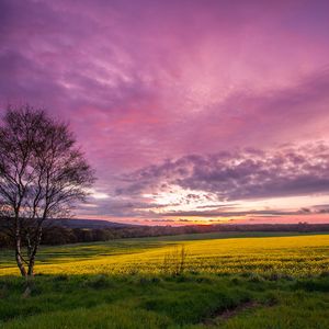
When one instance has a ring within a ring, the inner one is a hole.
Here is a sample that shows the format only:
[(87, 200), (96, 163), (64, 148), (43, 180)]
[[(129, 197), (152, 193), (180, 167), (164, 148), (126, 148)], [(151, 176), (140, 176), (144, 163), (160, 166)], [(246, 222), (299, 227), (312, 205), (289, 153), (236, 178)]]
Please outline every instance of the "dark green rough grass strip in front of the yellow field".
[[(3, 276), (0, 286), (1, 328), (329, 326), (328, 276), (42, 275), (29, 298), (22, 297), (18, 277)], [(251, 307), (243, 309), (245, 305)]]

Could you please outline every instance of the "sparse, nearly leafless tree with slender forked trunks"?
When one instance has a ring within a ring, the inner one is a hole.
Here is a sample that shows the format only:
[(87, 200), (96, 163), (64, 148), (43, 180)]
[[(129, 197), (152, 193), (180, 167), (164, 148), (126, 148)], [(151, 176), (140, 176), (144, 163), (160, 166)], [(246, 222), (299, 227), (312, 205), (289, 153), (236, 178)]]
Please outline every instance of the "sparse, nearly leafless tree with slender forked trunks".
[(45, 220), (67, 216), (93, 181), (67, 124), (30, 105), (9, 106), (0, 124), (0, 217), (27, 282)]

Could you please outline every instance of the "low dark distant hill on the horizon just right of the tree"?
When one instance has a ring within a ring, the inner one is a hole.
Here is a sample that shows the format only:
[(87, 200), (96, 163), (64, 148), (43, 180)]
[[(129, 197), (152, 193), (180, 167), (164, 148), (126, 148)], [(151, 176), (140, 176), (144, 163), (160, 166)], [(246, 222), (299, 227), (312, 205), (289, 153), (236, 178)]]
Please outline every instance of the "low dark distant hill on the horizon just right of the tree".
[(66, 228), (89, 228), (89, 229), (124, 228), (124, 227), (135, 226), (135, 225), (121, 224), (121, 223), (102, 220), (102, 219), (79, 219), (79, 218), (52, 219), (48, 220), (47, 224), (52, 224), (54, 226), (61, 226)]

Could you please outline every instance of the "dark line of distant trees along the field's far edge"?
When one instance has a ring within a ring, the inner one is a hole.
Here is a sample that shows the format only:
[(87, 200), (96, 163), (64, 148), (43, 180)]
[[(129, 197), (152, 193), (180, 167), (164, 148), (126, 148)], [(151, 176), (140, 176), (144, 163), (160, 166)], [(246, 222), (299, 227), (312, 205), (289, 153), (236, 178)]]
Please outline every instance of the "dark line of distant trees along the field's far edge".
[[(0, 220), (1, 222), (1, 220)], [(0, 225), (1, 227), (1, 225)], [(80, 242), (110, 241), (124, 238), (144, 238), (202, 232), (317, 232), (329, 231), (329, 224), (258, 224), (258, 225), (190, 225), (190, 226), (123, 226), (113, 228), (70, 228), (47, 225), (41, 243), (58, 246)], [(22, 247), (27, 246), (27, 232), (22, 234)], [(0, 230), (0, 248), (14, 248), (14, 239)]]

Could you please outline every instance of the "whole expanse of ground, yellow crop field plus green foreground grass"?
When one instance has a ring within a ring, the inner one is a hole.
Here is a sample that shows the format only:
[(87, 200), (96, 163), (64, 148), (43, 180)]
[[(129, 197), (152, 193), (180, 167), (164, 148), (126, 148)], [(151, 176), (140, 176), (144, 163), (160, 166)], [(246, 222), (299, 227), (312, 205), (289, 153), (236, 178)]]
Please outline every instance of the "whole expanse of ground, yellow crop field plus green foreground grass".
[(12, 257), (1, 251), (0, 328), (329, 328), (328, 234), (44, 247), (29, 298)]

